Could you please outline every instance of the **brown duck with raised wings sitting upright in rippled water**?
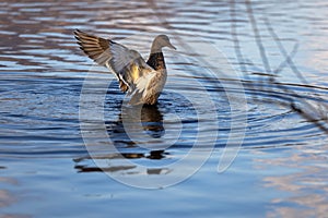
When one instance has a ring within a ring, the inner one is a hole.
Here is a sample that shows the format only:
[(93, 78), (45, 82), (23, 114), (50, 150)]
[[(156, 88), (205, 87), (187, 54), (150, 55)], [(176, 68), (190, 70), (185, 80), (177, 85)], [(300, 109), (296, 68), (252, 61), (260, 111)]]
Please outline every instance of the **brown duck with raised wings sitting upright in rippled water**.
[(119, 88), (129, 96), (130, 105), (156, 105), (167, 78), (163, 48), (176, 50), (168, 36), (157, 35), (150, 49), (148, 61), (133, 49), (75, 29), (80, 49), (97, 64), (116, 76)]

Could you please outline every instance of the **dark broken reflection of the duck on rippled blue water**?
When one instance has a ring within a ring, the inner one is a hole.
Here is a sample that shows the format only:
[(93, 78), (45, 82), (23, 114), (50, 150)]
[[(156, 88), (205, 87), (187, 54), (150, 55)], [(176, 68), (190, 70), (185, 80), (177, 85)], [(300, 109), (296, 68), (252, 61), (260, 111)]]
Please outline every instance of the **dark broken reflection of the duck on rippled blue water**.
[[(147, 134), (151, 138), (161, 138), (165, 133), (165, 129), (163, 126), (163, 116), (156, 105), (122, 108), (117, 121), (108, 120), (105, 123), (110, 141), (119, 153), (77, 158), (74, 162), (78, 172), (105, 171), (110, 173), (125, 173), (133, 170), (133, 173), (138, 173), (138, 165), (131, 165), (131, 162), (127, 165), (126, 161), (121, 160), (129, 159), (131, 161), (138, 161), (138, 159), (140, 159), (142, 161), (142, 159), (144, 159), (144, 161), (150, 161), (162, 160), (167, 157), (168, 153), (164, 149), (145, 149), (139, 147), (126, 131), (127, 125), (129, 125), (129, 131), (132, 129), (138, 133), (138, 131), (140, 131), (138, 129), (141, 129), (142, 134)], [(95, 160), (96, 166), (92, 160)], [(147, 169), (148, 174), (161, 174), (167, 173), (167, 171), (169, 171), (167, 168), (152, 168), (151, 166)]]

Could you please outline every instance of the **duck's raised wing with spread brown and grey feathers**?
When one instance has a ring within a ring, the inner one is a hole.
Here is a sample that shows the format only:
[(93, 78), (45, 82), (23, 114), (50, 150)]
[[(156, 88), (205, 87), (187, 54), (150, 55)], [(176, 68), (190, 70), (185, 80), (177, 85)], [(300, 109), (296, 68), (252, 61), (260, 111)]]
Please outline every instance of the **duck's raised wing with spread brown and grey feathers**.
[(80, 48), (89, 58), (115, 73), (122, 92), (133, 93), (136, 88), (139, 92), (143, 90), (155, 72), (136, 50), (79, 29), (74, 35)]

